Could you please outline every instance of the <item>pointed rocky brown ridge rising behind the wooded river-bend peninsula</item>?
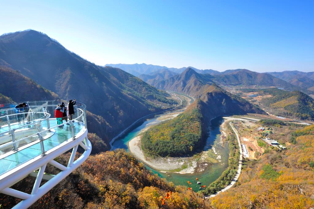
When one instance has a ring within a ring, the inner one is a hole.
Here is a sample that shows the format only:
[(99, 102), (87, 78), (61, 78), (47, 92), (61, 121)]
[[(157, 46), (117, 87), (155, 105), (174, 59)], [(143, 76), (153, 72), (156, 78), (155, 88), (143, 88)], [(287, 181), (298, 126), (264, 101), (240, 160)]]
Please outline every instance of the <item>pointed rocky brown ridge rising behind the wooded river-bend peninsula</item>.
[(245, 99), (232, 95), (213, 81), (209, 74), (199, 74), (188, 67), (184, 72), (159, 83), (158, 88), (181, 92), (201, 99), (204, 102), (206, 118), (212, 119), (219, 115), (244, 112), (263, 113), (257, 106)]

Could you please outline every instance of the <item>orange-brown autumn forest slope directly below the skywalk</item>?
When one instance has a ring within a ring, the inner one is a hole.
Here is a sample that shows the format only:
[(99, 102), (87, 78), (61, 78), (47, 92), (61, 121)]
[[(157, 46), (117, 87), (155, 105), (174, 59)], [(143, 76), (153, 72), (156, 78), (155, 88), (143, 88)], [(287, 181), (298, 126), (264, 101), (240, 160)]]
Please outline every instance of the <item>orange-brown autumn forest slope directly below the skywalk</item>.
[[(57, 159), (67, 163), (70, 153)], [(47, 172), (54, 174), (48, 164)], [(105, 172), (104, 172), (105, 171)], [(34, 178), (26, 177), (13, 186), (30, 193)], [(167, 195), (168, 193), (168, 195)], [(41, 197), (31, 209), (41, 208), (197, 208), (197, 201), (186, 187), (168, 183), (151, 174), (143, 165), (122, 149), (100, 153), (89, 158), (77, 170)], [(167, 197), (167, 199), (165, 198)], [(11, 208), (20, 200), (0, 194), (3, 209)], [(203, 204), (202, 204), (203, 205)], [(209, 208), (209, 202), (204, 208)]]

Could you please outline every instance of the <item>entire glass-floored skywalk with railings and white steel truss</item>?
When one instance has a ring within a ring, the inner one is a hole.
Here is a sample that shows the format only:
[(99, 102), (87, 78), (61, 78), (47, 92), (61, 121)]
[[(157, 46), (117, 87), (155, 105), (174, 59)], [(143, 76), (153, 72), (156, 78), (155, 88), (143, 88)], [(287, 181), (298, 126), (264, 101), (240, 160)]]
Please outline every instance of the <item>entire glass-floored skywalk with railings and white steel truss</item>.
[[(53, 116), (60, 101), (25, 103), (29, 107), (0, 105), (0, 193), (18, 198), (14, 209), (30, 207), (84, 163), (92, 149), (84, 104), (73, 104), (71, 120), (57, 125)], [(71, 152), (63, 158), (67, 162), (59, 163), (58, 157), (67, 152)], [(56, 168), (54, 174), (46, 173), (47, 164)], [(34, 180), (27, 185), (31, 192), (12, 188), (26, 177)]]

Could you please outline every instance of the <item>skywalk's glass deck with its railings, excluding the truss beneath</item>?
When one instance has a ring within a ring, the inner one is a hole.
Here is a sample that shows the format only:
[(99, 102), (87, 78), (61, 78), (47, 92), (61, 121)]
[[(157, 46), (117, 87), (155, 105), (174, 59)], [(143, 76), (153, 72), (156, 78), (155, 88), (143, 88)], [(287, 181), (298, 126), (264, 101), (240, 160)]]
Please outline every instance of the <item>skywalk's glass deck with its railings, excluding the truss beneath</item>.
[[(0, 109), (0, 176), (45, 153), (86, 129), (86, 106), (77, 102), (72, 121), (58, 127), (54, 116), (57, 101), (27, 102), (29, 110)], [(49, 121), (49, 122), (48, 122)], [(39, 134), (38, 134), (39, 133)], [(73, 138), (74, 137), (74, 138)]]

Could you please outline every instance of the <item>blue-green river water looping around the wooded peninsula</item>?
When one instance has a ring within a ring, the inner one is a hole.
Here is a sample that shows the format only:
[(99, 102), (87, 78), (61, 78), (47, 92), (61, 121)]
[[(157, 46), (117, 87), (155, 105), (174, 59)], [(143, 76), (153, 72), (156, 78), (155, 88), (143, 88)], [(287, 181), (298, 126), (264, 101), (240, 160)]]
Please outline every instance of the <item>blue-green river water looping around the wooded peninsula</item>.
[[(132, 140), (134, 137), (138, 135), (138, 133), (151, 125), (157, 124), (161, 122), (158, 120), (159, 115), (153, 119), (145, 121), (143, 124), (138, 125), (137, 127), (133, 128), (129, 133), (121, 138), (117, 139), (113, 144), (113, 149), (123, 148), (127, 152), (129, 152), (128, 142)], [(194, 172), (193, 174), (179, 174), (174, 172), (166, 172), (162, 173), (155, 169), (152, 169), (148, 165), (145, 167), (150, 170), (154, 174), (158, 174), (161, 178), (165, 178), (167, 181), (173, 182), (175, 185), (187, 185), (187, 181), (192, 182), (193, 190), (198, 190), (199, 185), (196, 184), (196, 177), (198, 177), (199, 181), (203, 185), (210, 185), (213, 181), (219, 178), (219, 176), (224, 172), (228, 167), (228, 158), (229, 158), (229, 146), (228, 143), (225, 146), (222, 146), (221, 142), (221, 132), (220, 132), (220, 124), (222, 123), (222, 118), (218, 117), (211, 121), (210, 126), (210, 136), (206, 140), (206, 144), (204, 146), (204, 151), (208, 151), (209, 149), (213, 149), (214, 153), (216, 153), (218, 163), (208, 163), (206, 168), (201, 172)]]

